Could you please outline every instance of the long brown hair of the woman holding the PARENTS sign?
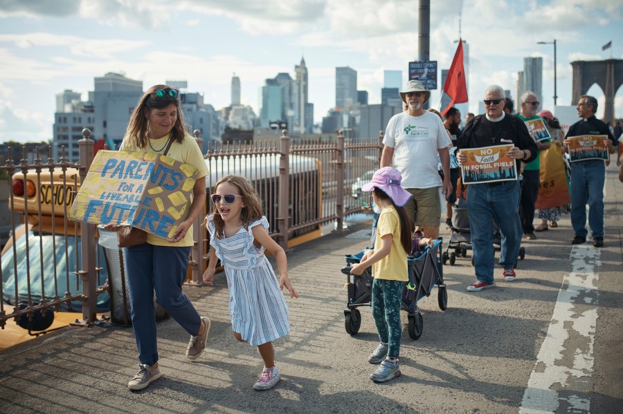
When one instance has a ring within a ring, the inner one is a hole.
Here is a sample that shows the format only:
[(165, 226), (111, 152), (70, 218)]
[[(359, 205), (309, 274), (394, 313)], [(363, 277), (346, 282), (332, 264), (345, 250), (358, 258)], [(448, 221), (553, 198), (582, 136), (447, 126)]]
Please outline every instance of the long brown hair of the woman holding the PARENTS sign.
[[(152, 92), (156, 89), (172, 89), (167, 85), (154, 85), (151, 88), (147, 89), (147, 91), (141, 96), (141, 99), (138, 100), (138, 104), (134, 111), (132, 111), (132, 116), (130, 117), (129, 124), (127, 124), (127, 130), (125, 131), (125, 135), (129, 140), (132, 140), (136, 143), (138, 148), (147, 147), (147, 136), (150, 131), (149, 122), (147, 122), (147, 115), (149, 115), (150, 111), (153, 109), (163, 109), (169, 106), (170, 104), (174, 104), (177, 109), (177, 120), (173, 125), (173, 129), (171, 130), (171, 139), (173, 142), (182, 142), (184, 139), (184, 135), (186, 135), (186, 129), (184, 127), (184, 117), (179, 106), (179, 95), (177, 97), (170, 97), (168, 94), (165, 94), (164, 97), (152, 95)], [(161, 137), (152, 137), (152, 138), (161, 138)]]

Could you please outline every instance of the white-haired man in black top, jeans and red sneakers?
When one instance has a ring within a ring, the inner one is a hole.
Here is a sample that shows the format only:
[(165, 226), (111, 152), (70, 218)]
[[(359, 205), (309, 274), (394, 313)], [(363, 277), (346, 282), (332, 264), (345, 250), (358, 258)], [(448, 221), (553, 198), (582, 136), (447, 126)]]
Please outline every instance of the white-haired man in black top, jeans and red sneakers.
[[(485, 89), (486, 113), (470, 120), (459, 138), (457, 159), (460, 163), (467, 161), (467, 155), (462, 154), (461, 149), (504, 144), (513, 144), (507, 156), (516, 162), (530, 162), (536, 158), (536, 144), (527, 127), (518, 117), (505, 113), (504, 104), (505, 94), (501, 86), (491, 85)], [(494, 286), (494, 220), (502, 235), (500, 265), (504, 269), (504, 279), (509, 282), (516, 279), (514, 267), (522, 234), (518, 213), (519, 194), (517, 180), (469, 185), (467, 212), (473, 265), (478, 279), (473, 285), (467, 286), (469, 292), (479, 292)]]

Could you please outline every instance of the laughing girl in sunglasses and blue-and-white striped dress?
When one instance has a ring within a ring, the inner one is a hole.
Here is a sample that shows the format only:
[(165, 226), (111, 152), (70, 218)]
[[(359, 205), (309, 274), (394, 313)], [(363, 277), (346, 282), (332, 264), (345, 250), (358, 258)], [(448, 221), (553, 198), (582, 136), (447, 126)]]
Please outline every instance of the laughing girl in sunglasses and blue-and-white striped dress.
[[(298, 298), (287, 272), (284, 250), (268, 234), (262, 203), (251, 182), (241, 176), (218, 180), (212, 195), (212, 214), (206, 217), (210, 233), (210, 259), (204, 283), (214, 277), (217, 259), (225, 267), (229, 288), (229, 312), (234, 337), (257, 346), (264, 370), (253, 389), (273, 388), (280, 374), (272, 341), (290, 332), (288, 308), (281, 290)], [(279, 282), (264, 250), (277, 260)]]

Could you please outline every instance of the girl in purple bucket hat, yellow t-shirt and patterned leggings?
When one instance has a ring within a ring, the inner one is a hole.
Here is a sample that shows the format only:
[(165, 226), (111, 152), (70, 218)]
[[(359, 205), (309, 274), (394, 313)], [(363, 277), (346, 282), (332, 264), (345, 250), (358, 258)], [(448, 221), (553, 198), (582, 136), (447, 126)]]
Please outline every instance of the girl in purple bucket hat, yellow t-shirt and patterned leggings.
[(381, 207), (374, 250), (365, 252), (351, 270), (352, 274), (361, 274), (372, 265), (372, 317), (381, 341), (368, 357), (370, 364), (381, 364), (370, 375), (374, 382), (388, 382), (400, 376), (400, 301), (408, 282), (407, 252), (413, 230), (413, 223), (402, 208), (411, 194), (400, 187), (401, 180), (397, 169), (383, 167), (361, 187), (363, 191), (372, 191), (374, 203)]

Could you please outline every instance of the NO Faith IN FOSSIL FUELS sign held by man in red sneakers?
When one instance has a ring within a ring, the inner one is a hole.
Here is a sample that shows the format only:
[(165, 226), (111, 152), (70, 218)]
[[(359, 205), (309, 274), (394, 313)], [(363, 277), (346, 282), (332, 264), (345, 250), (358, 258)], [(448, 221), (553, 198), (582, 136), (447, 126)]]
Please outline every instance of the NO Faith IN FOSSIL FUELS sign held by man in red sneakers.
[(461, 166), (461, 178), (464, 184), (480, 182), (509, 181), (517, 179), (515, 160), (507, 156), (508, 145), (461, 149), (467, 161)]

